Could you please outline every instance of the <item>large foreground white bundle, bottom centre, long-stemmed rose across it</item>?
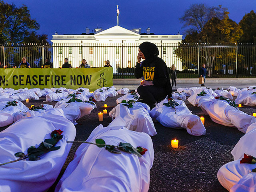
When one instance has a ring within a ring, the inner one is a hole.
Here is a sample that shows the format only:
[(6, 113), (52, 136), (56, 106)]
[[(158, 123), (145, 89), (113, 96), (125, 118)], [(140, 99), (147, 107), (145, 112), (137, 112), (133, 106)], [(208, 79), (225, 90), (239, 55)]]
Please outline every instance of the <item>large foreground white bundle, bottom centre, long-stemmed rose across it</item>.
[[(116, 119), (117, 120), (117, 119)], [(106, 144), (117, 145), (129, 142), (135, 148), (142, 146), (148, 151), (142, 157), (122, 152), (114, 154), (105, 148), (92, 144), (81, 144), (76, 150), (56, 192), (147, 192), (150, 182), (150, 168), (154, 160), (154, 149), (150, 136), (122, 127), (122, 119), (108, 126), (96, 127), (87, 142), (102, 138)]]

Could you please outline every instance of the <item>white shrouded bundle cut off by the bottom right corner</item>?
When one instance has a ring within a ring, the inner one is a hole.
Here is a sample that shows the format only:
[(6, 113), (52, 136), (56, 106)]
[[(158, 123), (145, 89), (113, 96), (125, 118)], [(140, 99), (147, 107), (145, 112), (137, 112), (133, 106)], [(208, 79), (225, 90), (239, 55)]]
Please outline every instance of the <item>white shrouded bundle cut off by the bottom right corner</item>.
[(232, 150), (234, 161), (225, 164), (219, 169), (218, 180), (227, 190), (256, 191), (256, 173), (250, 173), (252, 169), (256, 168), (256, 164), (240, 164), (244, 154), (256, 156), (255, 138), (256, 123), (253, 123)]

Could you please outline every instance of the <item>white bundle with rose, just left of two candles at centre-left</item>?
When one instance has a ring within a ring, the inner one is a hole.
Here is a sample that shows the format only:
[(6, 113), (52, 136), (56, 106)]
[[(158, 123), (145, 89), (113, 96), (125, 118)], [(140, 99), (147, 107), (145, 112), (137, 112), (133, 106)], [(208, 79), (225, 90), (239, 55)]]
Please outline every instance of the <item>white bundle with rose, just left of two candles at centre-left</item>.
[[(91, 111), (96, 108), (96, 104), (92, 102), (93, 104), (90, 104), (88, 102), (70, 102), (66, 103), (70, 100), (70, 98), (64, 99), (59, 101), (55, 104), (54, 108), (60, 108), (64, 110), (64, 115), (66, 118), (68, 118), (70, 121), (76, 121), (79, 118), (86, 116), (91, 113)], [(79, 110), (75, 110), (75, 108)], [(68, 113), (68, 114), (67, 114)]]

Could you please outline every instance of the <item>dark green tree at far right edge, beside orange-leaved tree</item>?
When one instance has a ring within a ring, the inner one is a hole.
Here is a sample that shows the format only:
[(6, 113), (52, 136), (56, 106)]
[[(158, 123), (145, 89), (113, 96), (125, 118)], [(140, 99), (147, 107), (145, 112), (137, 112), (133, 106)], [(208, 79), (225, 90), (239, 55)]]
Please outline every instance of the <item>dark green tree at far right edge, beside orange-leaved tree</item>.
[(239, 22), (239, 26), (244, 32), (240, 38), (240, 42), (256, 44), (256, 14), (253, 10), (244, 15)]

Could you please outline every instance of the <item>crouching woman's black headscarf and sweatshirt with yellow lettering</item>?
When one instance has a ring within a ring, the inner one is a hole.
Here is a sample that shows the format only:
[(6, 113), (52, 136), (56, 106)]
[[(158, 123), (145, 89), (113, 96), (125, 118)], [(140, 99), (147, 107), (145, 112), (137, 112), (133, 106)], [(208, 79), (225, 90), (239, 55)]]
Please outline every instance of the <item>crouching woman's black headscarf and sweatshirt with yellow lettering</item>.
[(172, 86), (169, 78), (168, 69), (164, 60), (158, 57), (159, 51), (155, 44), (143, 42), (139, 46), (140, 51), (144, 54), (145, 60), (135, 66), (135, 78), (152, 81), (154, 86), (166, 88), (168, 98), (172, 96)]

